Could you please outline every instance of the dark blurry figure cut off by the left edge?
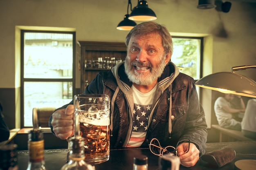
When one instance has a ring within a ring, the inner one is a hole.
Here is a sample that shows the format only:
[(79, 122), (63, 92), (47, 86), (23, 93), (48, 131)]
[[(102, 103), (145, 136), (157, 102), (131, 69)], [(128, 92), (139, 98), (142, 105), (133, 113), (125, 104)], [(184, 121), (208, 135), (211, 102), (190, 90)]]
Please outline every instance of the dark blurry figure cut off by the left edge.
[(4, 115), (2, 114), (3, 107), (0, 102), (0, 142), (7, 141), (10, 136), (10, 131), (7, 124), (4, 122)]

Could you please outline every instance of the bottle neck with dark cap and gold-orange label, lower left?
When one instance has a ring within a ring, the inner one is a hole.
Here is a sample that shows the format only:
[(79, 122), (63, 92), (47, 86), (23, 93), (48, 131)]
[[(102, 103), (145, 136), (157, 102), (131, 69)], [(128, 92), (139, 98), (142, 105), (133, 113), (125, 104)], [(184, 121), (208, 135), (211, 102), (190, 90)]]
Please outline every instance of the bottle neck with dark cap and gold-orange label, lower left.
[(27, 170), (46, 170), (43, 132), (33, 129), (28, 134), (29, 162)]

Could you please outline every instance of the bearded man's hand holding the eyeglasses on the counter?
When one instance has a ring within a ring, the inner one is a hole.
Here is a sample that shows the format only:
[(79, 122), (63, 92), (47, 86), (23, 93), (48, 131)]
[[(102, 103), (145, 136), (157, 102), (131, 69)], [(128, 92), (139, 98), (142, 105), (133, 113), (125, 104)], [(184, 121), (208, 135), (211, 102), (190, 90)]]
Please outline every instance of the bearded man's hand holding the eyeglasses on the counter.
[[(189, 152), (187, 152), (189, 149)], [(186, 153), (187, 152), (187, 153)], [(180, 164), (186, 167), (194, 166), (195, 163), (199, 160), (199, 150), (198, 148), (190, 143), (182, 143), (177, 146), (177, 153), (180, 157)]]

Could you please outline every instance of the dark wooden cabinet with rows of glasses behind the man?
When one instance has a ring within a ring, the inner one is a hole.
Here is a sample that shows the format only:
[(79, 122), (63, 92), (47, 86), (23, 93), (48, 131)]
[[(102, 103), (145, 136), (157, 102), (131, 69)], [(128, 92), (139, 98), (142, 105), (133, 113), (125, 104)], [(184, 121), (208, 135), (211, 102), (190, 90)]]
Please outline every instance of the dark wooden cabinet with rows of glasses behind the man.
[(81, 47), (81, 93), (86, 81), (90, 83), (97, 73), (110, 70), (126, 57), (125, 43), (79, 41), (78, 44)]

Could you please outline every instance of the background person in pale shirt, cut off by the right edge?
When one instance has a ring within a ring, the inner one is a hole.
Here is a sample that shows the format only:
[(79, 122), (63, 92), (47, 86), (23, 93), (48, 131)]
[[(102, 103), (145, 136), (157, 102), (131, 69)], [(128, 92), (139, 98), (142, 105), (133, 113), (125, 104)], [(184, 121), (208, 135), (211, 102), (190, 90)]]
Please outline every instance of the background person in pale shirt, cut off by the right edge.
[(241, 126), (245, 137), (256, 140), (256, 99), (248, 100)]

